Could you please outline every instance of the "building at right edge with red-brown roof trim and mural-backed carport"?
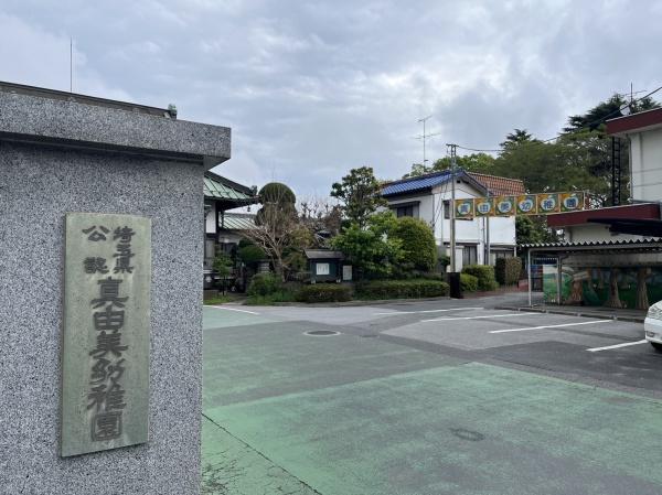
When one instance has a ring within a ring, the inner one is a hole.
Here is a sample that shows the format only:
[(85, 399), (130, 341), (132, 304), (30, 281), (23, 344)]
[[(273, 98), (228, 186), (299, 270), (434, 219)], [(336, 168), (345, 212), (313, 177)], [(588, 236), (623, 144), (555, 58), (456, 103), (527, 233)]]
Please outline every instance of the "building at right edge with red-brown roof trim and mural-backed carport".
[(549, 215), (564, 240), (525, 246), (530, 273), (544, 302), (645, 310), (662, 299), (662, 109), (608, 120), (607, 133), (630, 142), (632, 204)]

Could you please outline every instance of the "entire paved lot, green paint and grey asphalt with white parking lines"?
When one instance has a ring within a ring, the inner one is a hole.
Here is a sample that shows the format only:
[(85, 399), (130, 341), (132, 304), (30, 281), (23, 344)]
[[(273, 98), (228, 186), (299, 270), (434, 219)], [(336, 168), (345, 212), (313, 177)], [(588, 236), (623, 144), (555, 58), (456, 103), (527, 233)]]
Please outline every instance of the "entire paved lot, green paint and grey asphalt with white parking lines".
[(205, 308), (206, 493), (662, 493), (642, 324), (493, 305)]

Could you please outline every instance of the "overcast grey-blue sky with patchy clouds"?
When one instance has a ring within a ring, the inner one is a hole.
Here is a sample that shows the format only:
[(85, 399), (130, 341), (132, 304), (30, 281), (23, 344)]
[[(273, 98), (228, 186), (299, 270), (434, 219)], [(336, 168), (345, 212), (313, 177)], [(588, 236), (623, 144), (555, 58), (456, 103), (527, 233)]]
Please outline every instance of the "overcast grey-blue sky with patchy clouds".
[(215, 171), (325, 196), (351, 168), (396, 179), (446, 142), (555, 136), (616, 92), (662, 85), (662, 2), (2, 0), (0, 80), (232, 127)]

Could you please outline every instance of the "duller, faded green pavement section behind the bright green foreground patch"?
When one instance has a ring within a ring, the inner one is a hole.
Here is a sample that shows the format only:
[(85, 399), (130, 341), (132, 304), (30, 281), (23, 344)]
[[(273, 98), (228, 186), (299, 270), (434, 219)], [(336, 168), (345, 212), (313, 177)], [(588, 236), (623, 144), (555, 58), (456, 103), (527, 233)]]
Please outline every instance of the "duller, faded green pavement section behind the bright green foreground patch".
[(203, 407), (462, 363), (377, 338), (303, 334), (321, 327), (319, 323), (275, 322), (207, 330)]

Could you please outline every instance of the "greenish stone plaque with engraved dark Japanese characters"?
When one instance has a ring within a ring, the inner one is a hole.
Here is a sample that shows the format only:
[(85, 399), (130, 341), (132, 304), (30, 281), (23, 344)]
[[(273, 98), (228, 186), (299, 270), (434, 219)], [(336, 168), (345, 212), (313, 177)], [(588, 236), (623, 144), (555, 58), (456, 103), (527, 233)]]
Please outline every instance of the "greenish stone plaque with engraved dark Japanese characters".
[(151, 220), (66, 214), (62, 456), (148, 440)]

